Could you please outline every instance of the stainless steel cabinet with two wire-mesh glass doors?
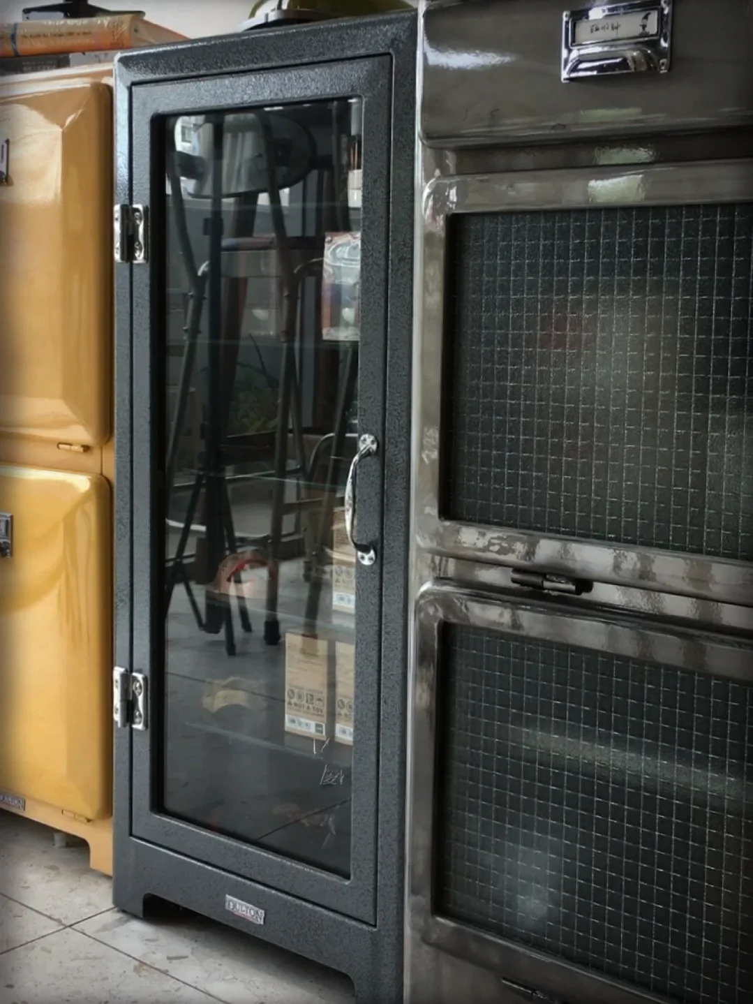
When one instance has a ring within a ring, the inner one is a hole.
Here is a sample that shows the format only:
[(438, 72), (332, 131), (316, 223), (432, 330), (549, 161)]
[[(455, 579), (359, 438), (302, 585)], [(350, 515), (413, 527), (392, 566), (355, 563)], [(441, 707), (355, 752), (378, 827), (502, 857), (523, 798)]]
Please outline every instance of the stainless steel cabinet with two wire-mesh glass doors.
[(565, 13), (420, 14), (408, 999), (740, 1004), (753, 24)]

